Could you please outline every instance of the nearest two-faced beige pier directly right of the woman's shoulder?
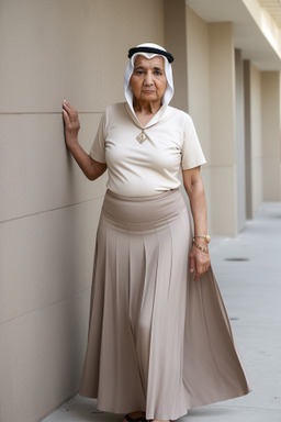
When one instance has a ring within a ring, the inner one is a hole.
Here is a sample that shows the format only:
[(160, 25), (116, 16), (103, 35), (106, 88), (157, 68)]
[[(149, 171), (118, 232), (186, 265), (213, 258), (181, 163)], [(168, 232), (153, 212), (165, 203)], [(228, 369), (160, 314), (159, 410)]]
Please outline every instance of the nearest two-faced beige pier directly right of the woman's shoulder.
[(207, 164), (211, 233), (237, 233), (235, 65), (231, 23), (209, 24), (187, 7), (188, 103)]

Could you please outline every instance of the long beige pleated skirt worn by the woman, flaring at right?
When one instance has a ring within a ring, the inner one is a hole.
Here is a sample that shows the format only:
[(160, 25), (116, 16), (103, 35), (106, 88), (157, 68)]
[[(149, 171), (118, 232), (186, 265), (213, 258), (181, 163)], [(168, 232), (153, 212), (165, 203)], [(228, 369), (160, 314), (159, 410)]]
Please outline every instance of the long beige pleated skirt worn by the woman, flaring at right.
[(178, 190), (106, 192), (80, 391), (98, 409), (176, 420), (249, 391), (212, 269), (189, 274), (191, 242)]

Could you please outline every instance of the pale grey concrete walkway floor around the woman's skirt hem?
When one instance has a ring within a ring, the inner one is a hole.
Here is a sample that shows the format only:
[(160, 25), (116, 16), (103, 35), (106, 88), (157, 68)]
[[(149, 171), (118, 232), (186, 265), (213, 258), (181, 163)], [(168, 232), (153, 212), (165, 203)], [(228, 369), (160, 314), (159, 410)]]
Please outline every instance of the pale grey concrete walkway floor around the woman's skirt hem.
[[(182, 422), (281, 422), (281, 202), (267, 202), (236, 238), (210, 244), (234, 336), (252, 392), (192, 409)], [(44, 422), (122, 422), (76, 396)]]

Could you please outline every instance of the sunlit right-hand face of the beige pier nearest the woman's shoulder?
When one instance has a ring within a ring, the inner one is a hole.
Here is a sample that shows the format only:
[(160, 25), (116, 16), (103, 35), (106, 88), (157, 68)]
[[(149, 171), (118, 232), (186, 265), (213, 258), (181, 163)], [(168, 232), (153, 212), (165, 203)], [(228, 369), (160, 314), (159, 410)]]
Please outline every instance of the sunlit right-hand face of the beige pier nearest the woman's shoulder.
[(209, 25), (213, 231), (237, 234), (235, 63), (232, 23)]

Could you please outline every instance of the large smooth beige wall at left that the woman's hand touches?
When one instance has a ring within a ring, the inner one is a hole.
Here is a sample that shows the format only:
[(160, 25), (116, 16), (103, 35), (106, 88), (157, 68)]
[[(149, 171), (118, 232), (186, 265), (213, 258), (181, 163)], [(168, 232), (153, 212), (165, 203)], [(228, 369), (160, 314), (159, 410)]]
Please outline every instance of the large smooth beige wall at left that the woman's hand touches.
[(0, 420), (33, 422), (78, 389), (105, 185), (67, 153), (61, 101), (89, 149), (127, 49), (164, 44), (164, 2), (2, 0), (0, 38)]

